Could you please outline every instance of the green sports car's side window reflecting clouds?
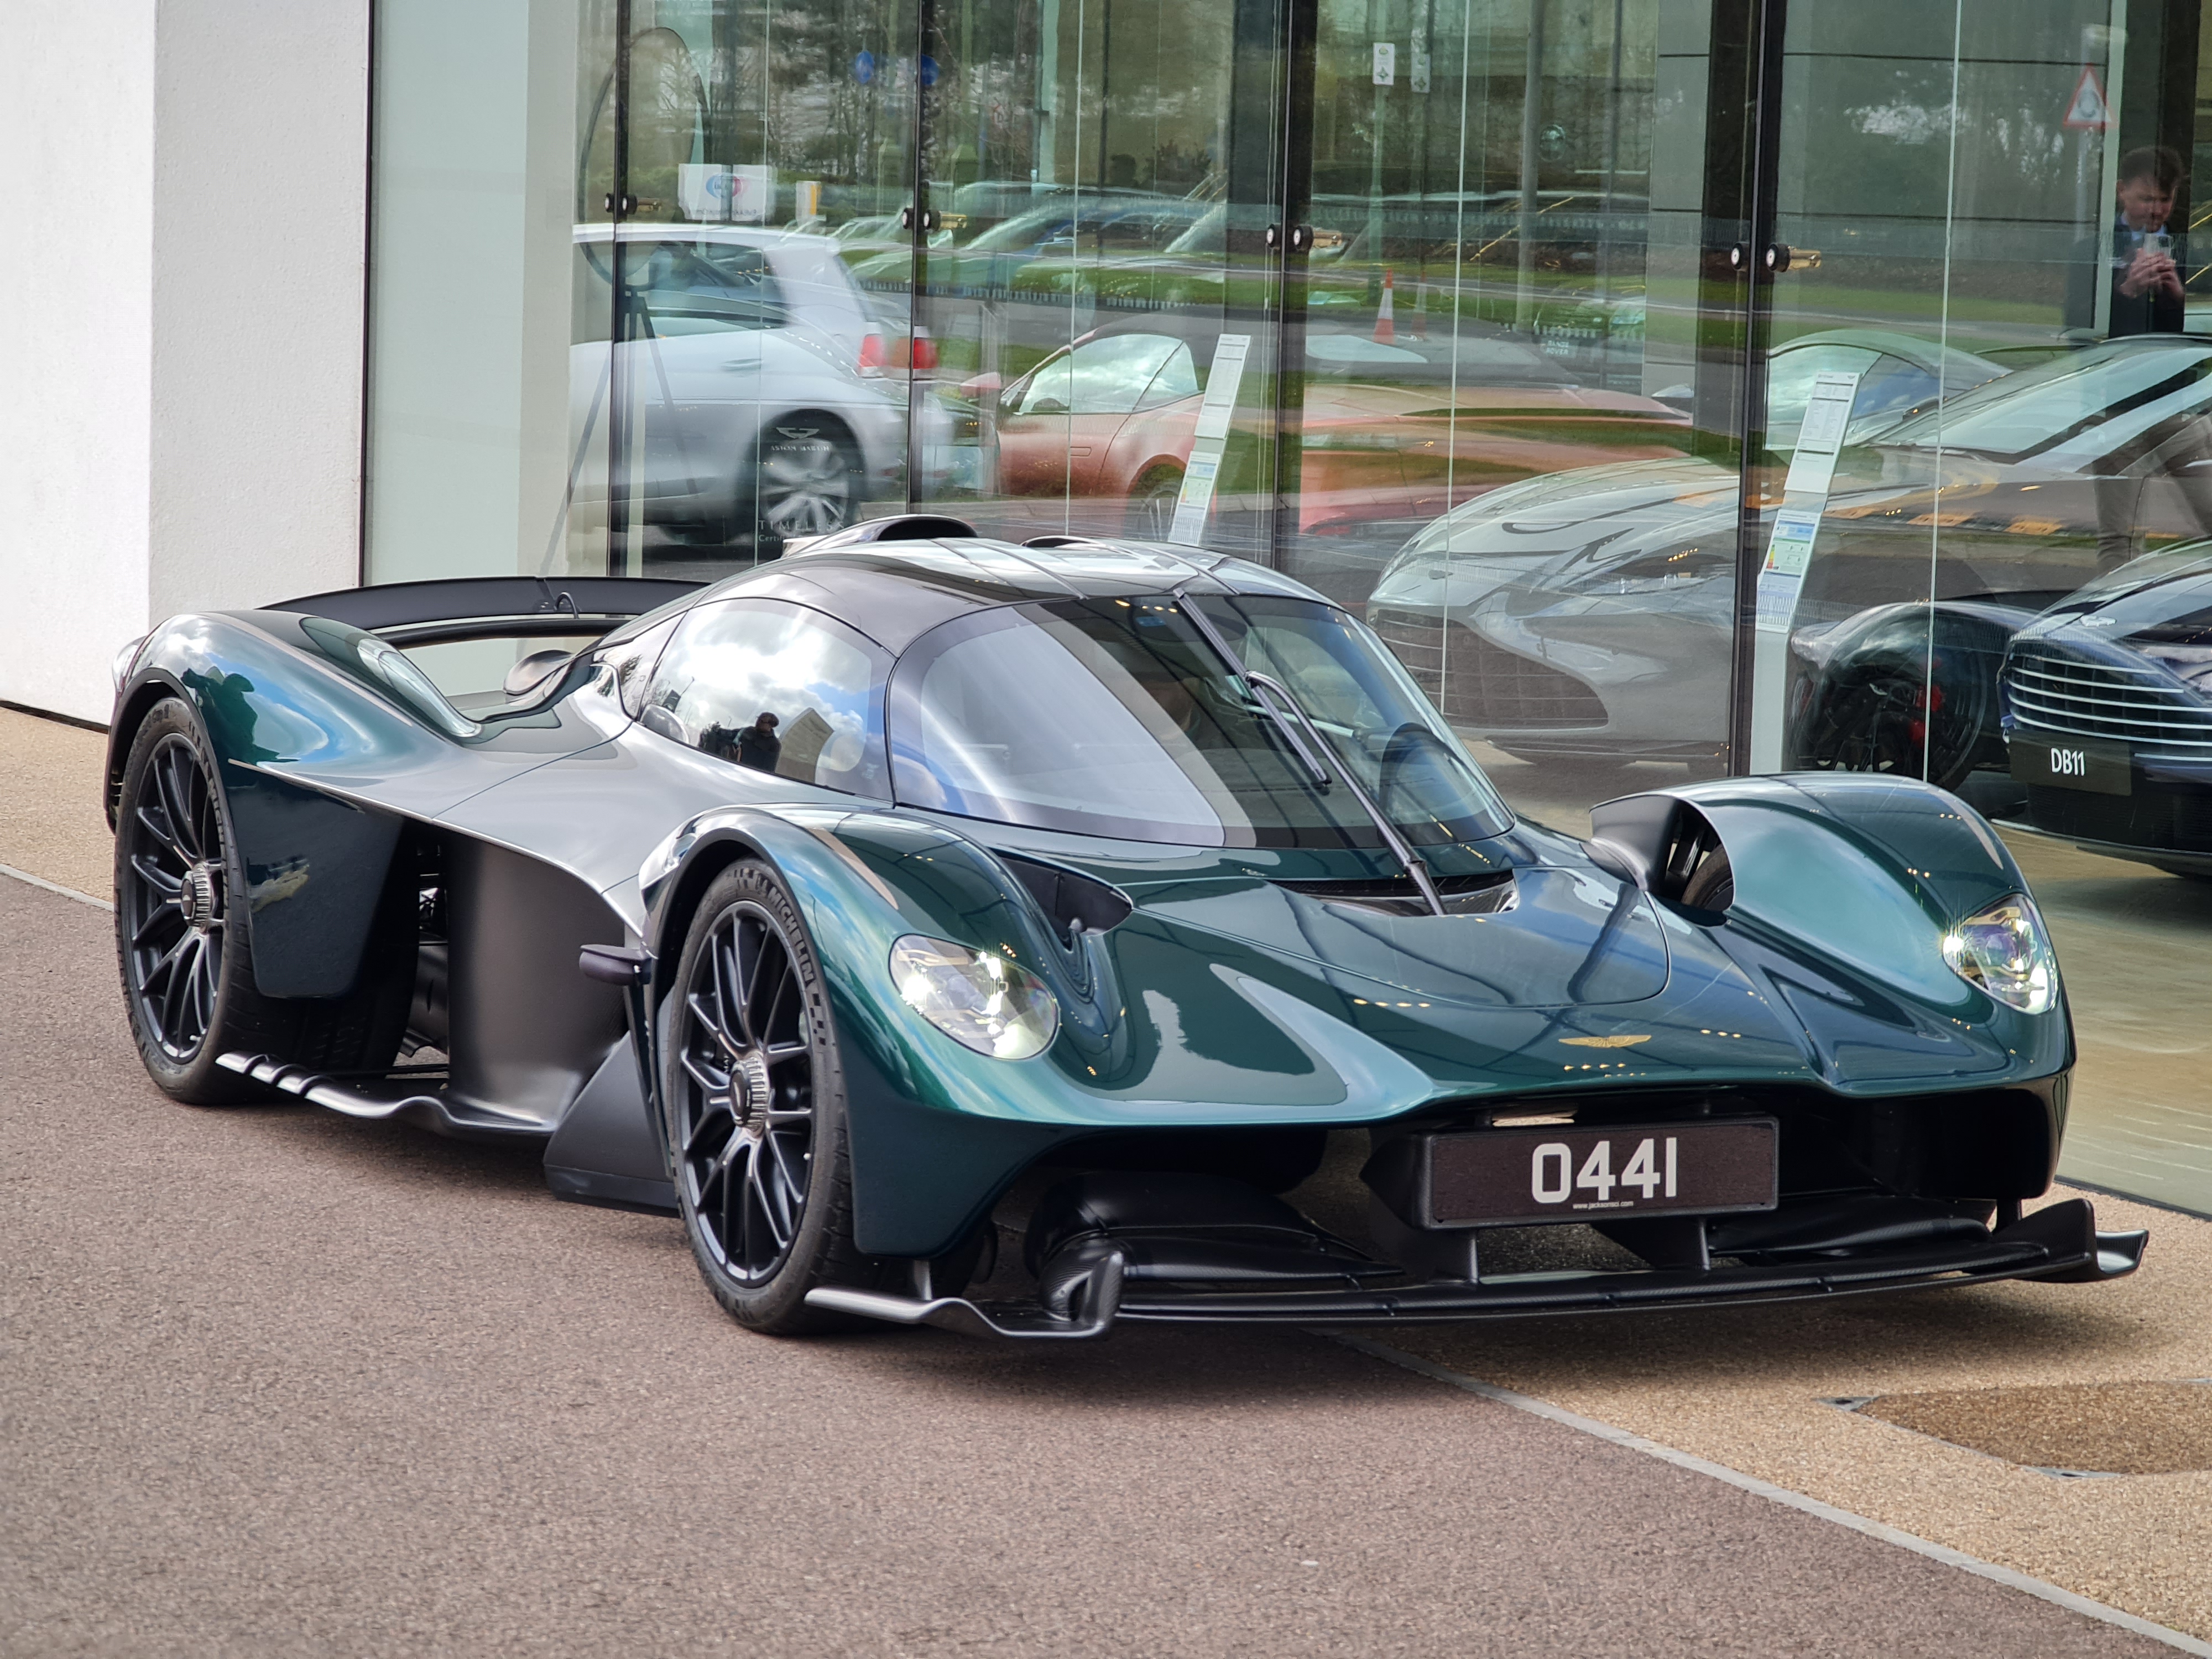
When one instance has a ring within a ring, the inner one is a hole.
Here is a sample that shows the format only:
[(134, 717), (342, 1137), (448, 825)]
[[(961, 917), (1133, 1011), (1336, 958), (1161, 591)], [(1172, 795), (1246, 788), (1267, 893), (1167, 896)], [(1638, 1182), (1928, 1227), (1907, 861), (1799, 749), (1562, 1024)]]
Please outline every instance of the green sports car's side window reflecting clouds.
[(885, 796), (887, 668), (880, 646), (818, 611), (703, 604), (661, 657), (641, 721), (732, 765)]

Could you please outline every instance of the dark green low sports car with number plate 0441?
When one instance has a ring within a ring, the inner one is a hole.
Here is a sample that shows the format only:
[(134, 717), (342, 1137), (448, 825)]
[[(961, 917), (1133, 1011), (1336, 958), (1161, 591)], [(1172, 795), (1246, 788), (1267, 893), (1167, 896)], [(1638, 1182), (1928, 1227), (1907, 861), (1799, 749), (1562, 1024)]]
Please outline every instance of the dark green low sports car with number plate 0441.
[[(484, 695), (409, 655), (577, 635)], [(2024, 1212), (2073, 1024), (1973, 812), (1807, 774), (1517, 823), (1365, 626), (1214, 553), (907, 515), (712, 588), (173, 617), (117, 664), (108, 812), (164, 1091), (542, 1146), (555, 1192), (679, 1214), (757, 1329), (1447, 1321), (2143, 1250)], [(1613, 1259), (1500, 1254), (1562, 1223)]]

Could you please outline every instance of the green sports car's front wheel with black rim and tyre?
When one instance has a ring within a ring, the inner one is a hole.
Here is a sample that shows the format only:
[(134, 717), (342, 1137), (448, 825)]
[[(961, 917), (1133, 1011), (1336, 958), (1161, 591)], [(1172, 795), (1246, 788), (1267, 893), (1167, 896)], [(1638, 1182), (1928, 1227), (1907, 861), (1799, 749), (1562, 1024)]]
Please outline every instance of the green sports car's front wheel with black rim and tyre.
[(852, 1243), (845, 1077), (799, 907), (757, 860), (714, 878), (684, 938), (664, 1097), (677, 1210), (714, 1301), (759, 1332), (843, 1325), (816, 1285), (872, 1285)]

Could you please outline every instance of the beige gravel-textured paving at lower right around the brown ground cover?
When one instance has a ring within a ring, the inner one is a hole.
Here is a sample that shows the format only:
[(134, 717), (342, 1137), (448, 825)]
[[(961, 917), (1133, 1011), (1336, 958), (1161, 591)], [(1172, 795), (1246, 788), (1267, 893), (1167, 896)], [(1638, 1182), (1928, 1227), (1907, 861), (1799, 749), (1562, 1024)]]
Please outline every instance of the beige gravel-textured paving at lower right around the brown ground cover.
[[(2150, 1228), (2132, 1279), (1427, 1327), (1389, 1340), (2212, 1639), (2212, 1473), (2068, 1480), (1991, 1455), (2026, 1449), (2017, 1420), (2026, 1389), (2053, 1391), (2035, 1411), (2044, 1444), (2055, 1436), (2110, 1444), (2132, 1429), (2188, 1451), (2201, 1436), (2194, 1411), (2119, 1420), (2112, 1385), (2212, 1376), (2212, 1223), (2090, 1197), (2099, 1225)], [(1893, 1411), (1920, 1427), (1832, 1405), (1931, 1394), (1942, 1396), (1940, 1411)], [(1922, 1431), (1942, 1427), (1989, 1449)]]

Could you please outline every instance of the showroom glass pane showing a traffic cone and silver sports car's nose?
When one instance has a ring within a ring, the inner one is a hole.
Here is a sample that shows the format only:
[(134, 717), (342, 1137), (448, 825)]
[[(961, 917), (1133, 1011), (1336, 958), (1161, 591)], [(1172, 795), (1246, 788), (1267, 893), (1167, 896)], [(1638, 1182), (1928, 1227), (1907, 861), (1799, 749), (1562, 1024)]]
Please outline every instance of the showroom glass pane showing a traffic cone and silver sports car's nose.
[(1743, 285), (1703, 250), (1743, 234), (1741, 153), (1708, 155), (1741, 33), (1677, 0), (1318, 11), (1283, 564), (1564, 827), (1728, 752)]

